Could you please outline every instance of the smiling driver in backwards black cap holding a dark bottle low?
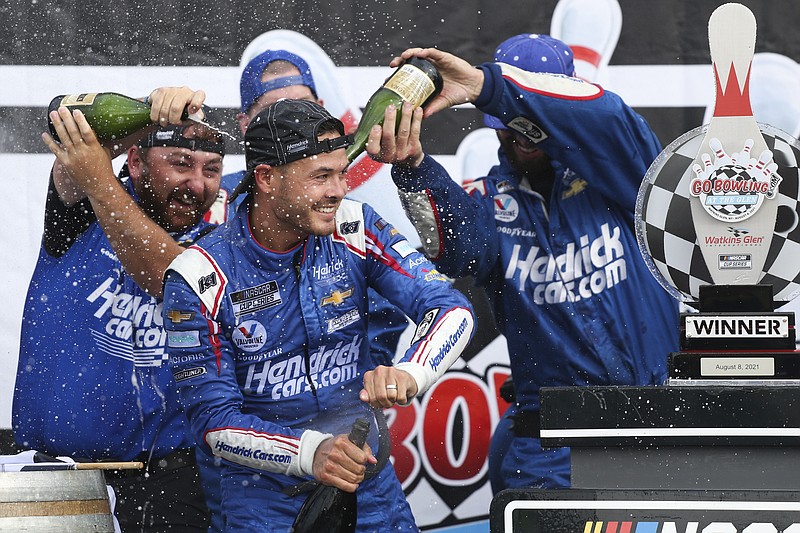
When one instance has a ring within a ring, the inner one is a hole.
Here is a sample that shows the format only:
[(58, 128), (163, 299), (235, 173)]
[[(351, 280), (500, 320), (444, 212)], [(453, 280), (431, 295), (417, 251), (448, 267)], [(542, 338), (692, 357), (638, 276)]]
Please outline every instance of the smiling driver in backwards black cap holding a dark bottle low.
[[(223, 459), (229, 532), (289, 530), (304, 478), (358, 489), (359, 531), (417, 530), (391, 462), (372, 455), (385, 452), (377, 432), (363, 449), (347, 432), (424, 394), (474, 321), (402, 235), (344, 199), (350, 142), (313, 102), (259, 113), (245, 135), (245, 203), (167, 272), (170, 364), (194, 434)], [(368, 353), (368, 286), (419, 324), (395, 366)]]

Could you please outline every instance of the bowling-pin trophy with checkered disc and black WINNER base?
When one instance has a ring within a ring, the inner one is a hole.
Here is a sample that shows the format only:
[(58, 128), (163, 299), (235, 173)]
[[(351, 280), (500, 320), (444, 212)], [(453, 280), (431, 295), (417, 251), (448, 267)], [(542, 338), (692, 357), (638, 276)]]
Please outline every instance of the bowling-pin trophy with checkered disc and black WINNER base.
[(698, 313), (681, 317), (669, 383), (800, 383), (800, 143), (750, 106), (756, 23), (724, 4), (708, 24), (716, 100), (708, 125), (673, 141), (639, 190), (636, 231), (651, 272)]

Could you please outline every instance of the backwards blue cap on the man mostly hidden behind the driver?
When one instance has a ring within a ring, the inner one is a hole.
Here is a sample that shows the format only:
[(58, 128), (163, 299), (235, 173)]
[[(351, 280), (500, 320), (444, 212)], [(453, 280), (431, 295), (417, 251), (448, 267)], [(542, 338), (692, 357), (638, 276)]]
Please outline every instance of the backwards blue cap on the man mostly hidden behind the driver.
[[(278, 60), (288, 61), (297, 67), (300, 74), (262, 82), (261, 75), (264, 74), (264, 69), (273, 61)], [(311, 69), (302, 57), (286, 50), (267, 50), (262, 52), (251, 59), (242, 71), (242, 79), (239, 82), (239, 91), (242, 96), (242, 113), (247, 113), (247, 110), (253, 106), (262, 94), (283, 87), (291, 87), (292, 85), (305, 85), (311, 89), (314, 98), (317, 98), (317, 88), (314, 85), (314, 78), (311, 77)]]

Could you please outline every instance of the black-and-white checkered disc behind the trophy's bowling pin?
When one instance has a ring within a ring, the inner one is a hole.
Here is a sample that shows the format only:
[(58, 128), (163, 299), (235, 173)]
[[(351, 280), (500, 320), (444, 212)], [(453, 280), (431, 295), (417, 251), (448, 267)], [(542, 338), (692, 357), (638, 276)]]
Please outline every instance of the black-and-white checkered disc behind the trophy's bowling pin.
[[(776, 201), (778, 215), (764, 271), (758, 281), (772, 285), (776, 301), (800, 294), (800, 142), (788, 133), (759, 124), (783, 178)], [(650, 165), (636, 201), (636, 236), (650, 271), (675, 298), (697, 301), (700, 285), (711, 285), (689, 204), (692, 163), (707, 126), (695, 128), (674, 140)], [(746, 229), (732, 224), (732, 236)]]

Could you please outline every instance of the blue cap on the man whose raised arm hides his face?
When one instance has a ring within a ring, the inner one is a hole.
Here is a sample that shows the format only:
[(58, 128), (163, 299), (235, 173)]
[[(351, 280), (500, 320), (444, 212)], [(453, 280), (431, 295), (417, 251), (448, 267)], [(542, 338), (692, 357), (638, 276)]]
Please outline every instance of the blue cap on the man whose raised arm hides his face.
[[(494, 51), (494, 61), (528, 72), (575, 75), (570, 47), (555, 37), (539, 33), (522, 33), (506, 39)], [(483, 123), (488, 128), (506, 129), (499, 118), (491, 115), (484, 115)]]

